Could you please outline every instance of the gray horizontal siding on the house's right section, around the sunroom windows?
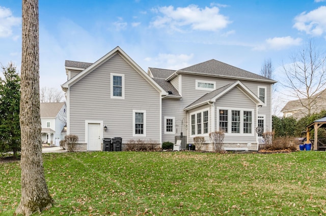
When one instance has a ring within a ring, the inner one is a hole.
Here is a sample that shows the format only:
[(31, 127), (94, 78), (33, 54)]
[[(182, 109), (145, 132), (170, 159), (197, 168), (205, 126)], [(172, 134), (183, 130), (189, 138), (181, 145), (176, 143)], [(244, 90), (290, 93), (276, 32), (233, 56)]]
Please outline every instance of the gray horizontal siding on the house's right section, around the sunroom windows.
[[(227, 79), (227, 78), (212, 78), (207, 76), (194, 76), (194, 75), (185, 75), (182, 74), (181, 78), (181, 91), (182, 91), (182, 99), (181, 100), (172, 100), (172, 99), (166, 99), (162, 100), (162, 141), (171, 141), (173, 140), (171, 134), (164, 134), (164, 116), (174, 116), (177, 120), (181, 120), (182, 118), (187, 119), (187, 143), (193, 143), (193, 137), (190, 136), (190, 113), (194, 112), (194, 110), (188, 111), (188, 114), (183, 111), (184, 107), (188, 106), (201, 96), (203, 96), (206, 93), (209, 93), (210, 91), (205, 90), (196, 90), (196, 79), (200, 80), (207, 80), (216, 82), (216, 89), (219, 89), (221, 87), (224, 87), (230, 83), (234, 83), (235, 79)], [(178, 78), (175, 78), (172, 80), (172, 82), (176, 82)], [(265, 115), (265, 125), (266, 129), (271, 128), (271, 95), (270, 95), (270, 88), (271, 85), (268, 83), (263, 82), (255, 82), (255, 81), (245, 81), (240, 80), (244, 85), (246, 85), (255, 95), (258, 96), (258, 86), (266, 87), (266, 106), (262, 106), (258, 109), (258, 115)], [(172, 83), (171, 82), (171, 83)], [(174, 84), (175, 85), (175, 84)], [(180, 91), (180, 90), (179, 90)], [(240, 105), (239, 105), (240, 104)], [(209, 107), (210, 105), (206, 105)], [(249, 99), (246, 95), (244, 95), (239, 89), (233, 89), (225, 96), (221, 97), (218, 101), (215, 103), (215, 111), (214, 111), (214, 122), (215, 122), (215, 128), (217, 128), (218, 124), (218, 115), (216, 113), (216, 106), (227, 106), (227, 107), (239, 107), (239, 108), (249, 108), (254, 109), (254, 121), (253, 121), (253, 127), (256, 127), (257, 125), (257, 107), (256, 104)], [(203, 109), (203, 107), (200, 107), (200, 109)], [(211, 121), (211, 112), (209, 112), (209, 121)], [(178, 125), (180, 123), (176, 122)], [(209, 130), (211, 131), (211, 123), (209, 122)], [(175, 136), (179, 135), (180, 127), (178, 129), (178, 134), (175, 134)], [(183, 130), (183, 135), (185, 136), (185, 132)], [(233, 139), (234, 138), (234, 139)], [(209, 143), (209, 138), (205, 137), (205, 141)], [(257, 140), (256, 140), (256, 134), (254, 133), (254, 136), (228, 136), (225, 138), (225, 141), (228, 143), (225, 143), (226, 147), (238, 147), (237, 144), (240, 144), (240, 147), (247, 147), (248, 143), (252, 143), (250, 150), (256, 150), (257, 149)], [(234, 146), (236, 145), (236, 146)], [(207, 147), (207, 149), (211, 149)]]

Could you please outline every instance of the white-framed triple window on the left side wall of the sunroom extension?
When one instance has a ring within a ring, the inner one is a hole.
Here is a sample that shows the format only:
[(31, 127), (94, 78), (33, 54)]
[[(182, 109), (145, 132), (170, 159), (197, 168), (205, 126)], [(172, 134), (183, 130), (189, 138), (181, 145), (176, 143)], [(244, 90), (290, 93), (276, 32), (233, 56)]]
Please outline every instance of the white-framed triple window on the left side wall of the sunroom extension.
[(208, 110), (191, 114), (191, 135), (207, 134), (209, 132)]

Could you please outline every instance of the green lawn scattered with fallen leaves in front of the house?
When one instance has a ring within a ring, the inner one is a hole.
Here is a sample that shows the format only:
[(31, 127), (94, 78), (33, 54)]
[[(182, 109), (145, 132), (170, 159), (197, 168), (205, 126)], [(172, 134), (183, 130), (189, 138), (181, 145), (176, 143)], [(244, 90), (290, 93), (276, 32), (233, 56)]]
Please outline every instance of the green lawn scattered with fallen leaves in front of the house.
[[(326, 215), (326, 152), (43, 154), (56, 204), (42, 215)], [(0, 215), (20, 200), (0, 164)]]

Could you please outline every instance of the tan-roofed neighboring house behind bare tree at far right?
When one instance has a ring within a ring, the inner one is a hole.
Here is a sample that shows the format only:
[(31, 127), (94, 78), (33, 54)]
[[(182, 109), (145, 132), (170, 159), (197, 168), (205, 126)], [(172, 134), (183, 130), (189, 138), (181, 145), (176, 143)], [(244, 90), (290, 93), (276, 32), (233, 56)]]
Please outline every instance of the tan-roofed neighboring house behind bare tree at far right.
[[(311, 109), (310, 113), (320, 113), (322, 110), (326, 110), (326, 90), (320, 91), (310, 99)], [(283, 117), (293, 117), (295, 119), (301, 119), (308, 115), (308, 98), (301, 100), (290, 100), (288, 101), (281, 112)]]

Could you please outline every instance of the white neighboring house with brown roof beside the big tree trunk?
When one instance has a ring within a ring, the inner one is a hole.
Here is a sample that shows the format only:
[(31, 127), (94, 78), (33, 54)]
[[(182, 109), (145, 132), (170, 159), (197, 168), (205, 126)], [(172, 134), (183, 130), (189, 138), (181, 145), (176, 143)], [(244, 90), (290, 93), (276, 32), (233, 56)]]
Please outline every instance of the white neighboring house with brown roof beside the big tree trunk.
[(40, 112), (42, 143), (59, 146), (65, 136), (62, 131), (66, 125), (66, 103), (40, 103)]

